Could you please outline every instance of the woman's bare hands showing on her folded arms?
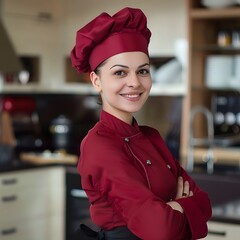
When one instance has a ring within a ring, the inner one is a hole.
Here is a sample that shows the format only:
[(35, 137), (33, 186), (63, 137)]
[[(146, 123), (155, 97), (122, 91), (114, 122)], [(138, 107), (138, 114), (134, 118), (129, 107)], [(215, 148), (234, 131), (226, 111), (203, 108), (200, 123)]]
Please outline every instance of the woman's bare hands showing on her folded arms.
[[(175, 199), (186, 198), (186, 197), (190, 197), (190, 196), (193, 196), (193, 192), (190, 190), (189, 182), (188, 181), (184, 182), (183, 178), (181, 176), (178, 177), (178, 181), (177, 181), (177, 195), (176, 195)], [(169, 205), (174, 210), (177, 210), (177, 211), (179, 211), (181, 213), (184, 213), (183, 208), (176, 201), (167, 202), (167, 205)]]

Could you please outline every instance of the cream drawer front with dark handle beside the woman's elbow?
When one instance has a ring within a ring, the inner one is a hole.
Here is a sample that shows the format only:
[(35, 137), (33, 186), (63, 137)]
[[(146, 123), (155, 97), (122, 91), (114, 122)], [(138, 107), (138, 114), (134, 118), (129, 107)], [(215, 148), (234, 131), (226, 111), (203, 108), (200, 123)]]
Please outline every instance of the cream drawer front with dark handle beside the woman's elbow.
[(206, 240), (238, 240), (240, 234), (240, 226), (237, 224), (209, 222), (208, 236)]

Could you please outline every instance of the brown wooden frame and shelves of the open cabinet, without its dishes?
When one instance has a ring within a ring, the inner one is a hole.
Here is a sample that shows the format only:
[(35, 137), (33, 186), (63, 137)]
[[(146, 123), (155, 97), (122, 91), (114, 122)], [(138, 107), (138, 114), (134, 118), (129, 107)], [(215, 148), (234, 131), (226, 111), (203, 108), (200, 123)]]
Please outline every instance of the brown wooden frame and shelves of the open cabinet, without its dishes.
[[(219, 42), (221, 31), (227, 30), (229, 34), (232, 34), (235, 29), (240, 29), (240, 6), (206, 8), (201, 5), (201, 2), (201, 0), (186, 1), (188, 14), (189, 64), (188, 94), (184, 102), (181, 137), (181, 160), (183, 166), (186, 166), (187, 156), (189, 155), (189, 145), (191, 144), (190, 131), (194, 132), (195, 138), (208, 138), (207, 121), (203, 115), (200, 114), (200, 116), (196, 116), (194, 124), (190, 127), (190, 113), (192, 109), (196, 106), (202, 106), (211, 112), (212, 99), (216, 94), (236, 94), (236, 88), (230, 85), (227, 85), (227, 87), (208, 86), (206, 83), (206, 61), (208, 57), (212, 55), (234, 57), (240, 54), (239, 47), (232, 46), (231, 43), (223, 45)], [(224, 68), (226, 68), (226, 66), (223, 66), (223, 69)], [(219, 71), (220, 70), (221, 69), (219, 69)], [(207, 150), (208, 148), (208, 146), (202, 147), (203, 150)], [(227, 149), (225, 150), (228, 155), (230, 151), (228, 152)], [(205, 155), (200, 154), (200, 161), (205, 158), (204, 156), (207, 154), (206, 151), (204, 154)], [(219, 156), (219, 159), (223, 160), (221, 156)], [(234, 160), (234, 164), (239, 164), (240, 157), (238, 156), (231, 160)]]

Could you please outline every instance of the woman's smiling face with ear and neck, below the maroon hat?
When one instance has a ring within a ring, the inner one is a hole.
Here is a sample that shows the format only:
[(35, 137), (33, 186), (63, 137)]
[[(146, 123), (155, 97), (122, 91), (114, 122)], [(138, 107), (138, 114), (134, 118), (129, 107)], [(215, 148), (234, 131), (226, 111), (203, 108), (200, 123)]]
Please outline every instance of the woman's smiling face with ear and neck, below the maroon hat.
[(101, 94), (103, 109), (130, 124), (152, 86), (149, 58), (143, 52), (114, 55), (100, 67), (99, 75), (92, 72), (90, 77)]

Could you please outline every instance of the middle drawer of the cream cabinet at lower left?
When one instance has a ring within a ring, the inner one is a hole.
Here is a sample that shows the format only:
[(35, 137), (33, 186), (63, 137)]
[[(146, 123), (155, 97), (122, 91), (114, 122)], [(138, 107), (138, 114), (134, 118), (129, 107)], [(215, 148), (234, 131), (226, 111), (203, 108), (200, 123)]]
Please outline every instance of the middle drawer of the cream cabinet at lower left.
[(64, 212), (65, 188), (46, 186), (19, 188), (18, 191), (1, 190), (0, 222), (4, 219), (23, 219), (50, 216)]

